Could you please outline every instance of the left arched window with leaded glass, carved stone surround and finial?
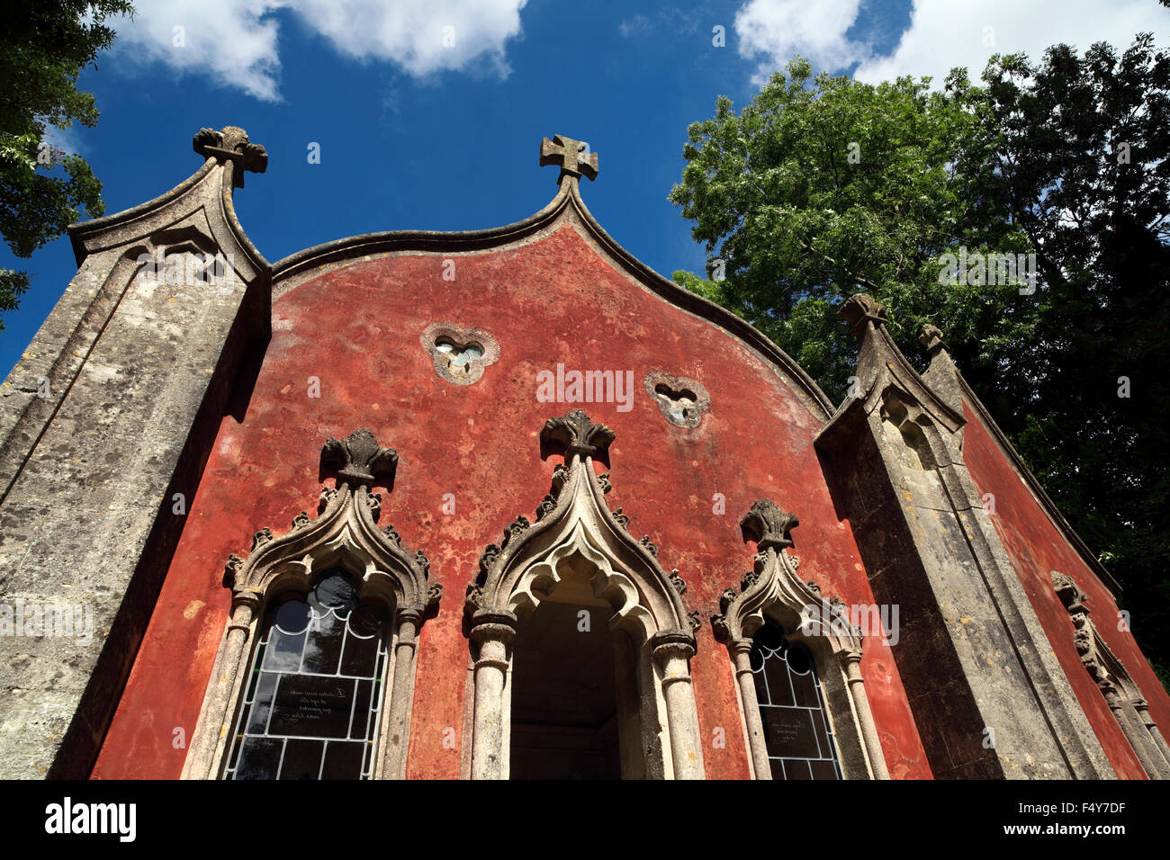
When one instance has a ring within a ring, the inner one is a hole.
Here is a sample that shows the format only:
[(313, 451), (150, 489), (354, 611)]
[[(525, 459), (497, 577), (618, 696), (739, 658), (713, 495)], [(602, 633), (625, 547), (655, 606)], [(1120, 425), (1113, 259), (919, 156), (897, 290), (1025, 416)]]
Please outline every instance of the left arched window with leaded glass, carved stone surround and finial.
[(398, 454), (329, 439), (319, 516), (261, 529), (225, 567), (228, 618), (183, 777), (402, 778), (418, 631), (441, 596), (422, 552), (376, 521)]

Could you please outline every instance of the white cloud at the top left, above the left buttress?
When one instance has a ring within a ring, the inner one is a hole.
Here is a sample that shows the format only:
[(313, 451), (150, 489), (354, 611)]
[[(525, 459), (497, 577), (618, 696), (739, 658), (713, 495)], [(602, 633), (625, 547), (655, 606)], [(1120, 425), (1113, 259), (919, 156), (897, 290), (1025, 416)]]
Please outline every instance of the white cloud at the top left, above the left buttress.
[(276, 13), (339, 54), (392, 62), (425, 77), (442, 70), (508, 74), (504, 46), (519, 35), (526, 0), (151, 0), (117, 25), (116, 50), (143, 63), (206, 74), (276, 101), (281, 56)]

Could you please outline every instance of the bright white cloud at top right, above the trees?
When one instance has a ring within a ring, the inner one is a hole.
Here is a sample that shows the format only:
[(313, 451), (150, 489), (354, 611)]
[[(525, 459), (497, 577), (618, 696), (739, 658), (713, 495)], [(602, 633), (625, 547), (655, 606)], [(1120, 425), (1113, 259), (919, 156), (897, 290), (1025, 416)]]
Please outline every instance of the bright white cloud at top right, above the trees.
[(997, 53), (1025, 51), (1039, 60), (1057, 42), (1082, 53), (1099, 41), (1123, 50), (1138, 32), (1152, 30), (1159, 44), (1170, 35), (1170, 9), (1155, 0), (914, 0), (909, 28), (893, 53), (881, 56), (845, 35), (859, 6), (860, 0), (749, 0), (736, 14), (739, 54), (764, 56), (762, 73), (800, 54), (830, 70), (860, 63), (859, 81), (929, 75), (942, 85), (956, 66), (978, 78)]

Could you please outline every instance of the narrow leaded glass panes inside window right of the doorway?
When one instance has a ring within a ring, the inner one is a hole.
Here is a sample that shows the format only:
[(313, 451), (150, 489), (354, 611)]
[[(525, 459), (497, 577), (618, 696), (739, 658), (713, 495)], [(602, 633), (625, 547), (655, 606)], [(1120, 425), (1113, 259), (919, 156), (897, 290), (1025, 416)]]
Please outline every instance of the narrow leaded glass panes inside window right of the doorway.
[(812, 654), (768, 619), (752, 638), (751, 672), (772, 779), (841, 779), (837, 742)]

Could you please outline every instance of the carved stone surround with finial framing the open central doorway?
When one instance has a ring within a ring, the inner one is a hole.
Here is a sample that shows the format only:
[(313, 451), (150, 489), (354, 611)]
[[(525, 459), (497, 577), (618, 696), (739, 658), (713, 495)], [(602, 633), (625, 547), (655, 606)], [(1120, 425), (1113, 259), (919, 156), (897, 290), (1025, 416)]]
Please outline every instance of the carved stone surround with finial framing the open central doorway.
[[(627, 706), (621, 716), (625, 724), (640, 727), (638, 737), (627, 731), (620, 743), (624, 773), (700, 779), (703, 752), (689, 670), (697, 621), (682, 600), (686, 584), (677, 571), (667, 573), (659, 565), (658, 548), (648, 537), (635, 541), (605, 502), (610, 481), (594, 474), (593, 455), (608, 447), (613, 431), (573, 410), (545, 422), (541, 436), (565, 448), (552, 491), (541, 503), (535, 524), (517, 517), (503, 541), (488, 546), (480, 575), (467, 590), (474, 661), (470, 777), (508, 777), (508, 675), (516, 628), (558, 585), (573, 578), (613, 608), (610, 628), (626, 638), (636, 663), (619, 675), (628, 675), (631, 690), (645, 692), (634, 693), (632, 701), (638, 704)], [(619, 702), (624, 699), (619, 692)]]

